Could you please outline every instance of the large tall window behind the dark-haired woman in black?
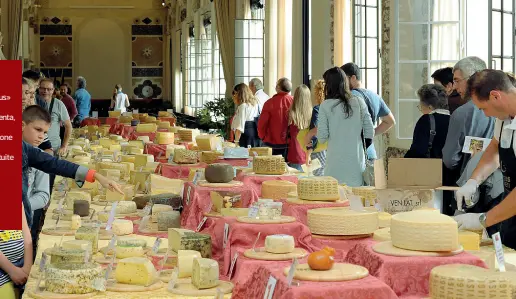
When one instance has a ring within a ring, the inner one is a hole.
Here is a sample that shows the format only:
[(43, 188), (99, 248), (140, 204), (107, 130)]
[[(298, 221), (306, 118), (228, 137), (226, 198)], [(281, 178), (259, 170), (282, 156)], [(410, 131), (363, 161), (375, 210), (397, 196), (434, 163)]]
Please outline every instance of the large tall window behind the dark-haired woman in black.
[(432, 73), (464, 56), (460, 0), (395, 0), (397, 139), (410, 142), (421, 116), (416, 92)]

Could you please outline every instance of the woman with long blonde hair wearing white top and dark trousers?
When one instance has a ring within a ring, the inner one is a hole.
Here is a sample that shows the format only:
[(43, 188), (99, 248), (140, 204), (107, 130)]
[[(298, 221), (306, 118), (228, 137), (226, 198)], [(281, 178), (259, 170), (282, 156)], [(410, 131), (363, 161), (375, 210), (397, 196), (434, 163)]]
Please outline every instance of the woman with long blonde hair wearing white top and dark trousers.
[(258, 100), (251, 89), (240, 83), (233, 88), (233, 102), (237, 106), (235, 117), (231, 123), (231, 130), (235, 132), (235, 143), (241, 147), (258, 147), (258, 127), (256, 118), (260, 116)]

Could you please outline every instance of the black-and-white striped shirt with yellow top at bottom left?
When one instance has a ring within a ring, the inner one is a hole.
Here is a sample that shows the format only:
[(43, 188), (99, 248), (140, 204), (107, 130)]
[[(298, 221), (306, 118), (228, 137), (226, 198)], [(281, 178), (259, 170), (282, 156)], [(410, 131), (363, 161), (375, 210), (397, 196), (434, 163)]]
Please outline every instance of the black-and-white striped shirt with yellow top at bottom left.
[[(16, 266), (24, 257), (23, 233), (21, 230), (0, 230), (0, 251)], [(0, 286), (11, 281), (9, 274), (0, 270)]]

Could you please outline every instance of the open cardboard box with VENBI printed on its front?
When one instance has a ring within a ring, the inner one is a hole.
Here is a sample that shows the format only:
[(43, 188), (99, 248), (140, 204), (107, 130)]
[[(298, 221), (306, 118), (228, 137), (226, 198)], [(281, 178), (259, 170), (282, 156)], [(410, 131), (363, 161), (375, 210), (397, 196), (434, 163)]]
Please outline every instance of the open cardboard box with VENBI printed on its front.
[(396, 214), (418, 208), (441, 210), (441, 159), (389, 159), (385, 177), (383, 160), (375, 161), (375, 187), (383, 211)]

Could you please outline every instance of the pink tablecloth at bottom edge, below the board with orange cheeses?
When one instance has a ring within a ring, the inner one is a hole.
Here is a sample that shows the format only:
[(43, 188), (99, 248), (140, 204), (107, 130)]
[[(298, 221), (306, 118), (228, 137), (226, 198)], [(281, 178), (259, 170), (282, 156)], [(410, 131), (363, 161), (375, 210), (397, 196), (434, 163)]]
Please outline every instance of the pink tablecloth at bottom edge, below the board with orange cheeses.
[[(288, 267), (288, 265), (287, 265)], [(270, 276), (277, 279), (273, 299), (396, 299), (396, 294), (382, 281), (369, 275), (365, 278), (339, 282), (301, 281), (299, 286), (288, 286), (283, 265), (261, 266), (244, 282), (233, 289), (233, 299), (263, 298)]]

